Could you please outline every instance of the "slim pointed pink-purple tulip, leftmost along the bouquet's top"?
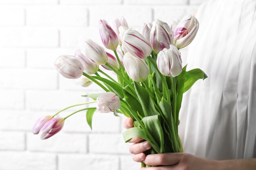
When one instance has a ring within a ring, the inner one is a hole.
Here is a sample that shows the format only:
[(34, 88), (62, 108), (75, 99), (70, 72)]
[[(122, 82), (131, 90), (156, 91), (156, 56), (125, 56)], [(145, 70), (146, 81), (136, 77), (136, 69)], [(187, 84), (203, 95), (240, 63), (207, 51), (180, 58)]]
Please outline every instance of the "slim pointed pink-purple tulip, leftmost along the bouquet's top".
[(107, 49), (116, 50), (118, 37), (106, 20), (99, 20), (99, 33), (101, 41)]

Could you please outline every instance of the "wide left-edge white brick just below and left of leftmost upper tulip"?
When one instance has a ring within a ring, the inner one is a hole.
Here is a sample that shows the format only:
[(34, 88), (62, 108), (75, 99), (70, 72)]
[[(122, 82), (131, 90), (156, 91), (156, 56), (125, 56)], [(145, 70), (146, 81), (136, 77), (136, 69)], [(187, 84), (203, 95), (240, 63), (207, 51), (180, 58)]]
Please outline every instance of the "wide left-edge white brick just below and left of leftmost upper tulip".
[(0, 88), (56, 89), (57, 71), (0, 69)]

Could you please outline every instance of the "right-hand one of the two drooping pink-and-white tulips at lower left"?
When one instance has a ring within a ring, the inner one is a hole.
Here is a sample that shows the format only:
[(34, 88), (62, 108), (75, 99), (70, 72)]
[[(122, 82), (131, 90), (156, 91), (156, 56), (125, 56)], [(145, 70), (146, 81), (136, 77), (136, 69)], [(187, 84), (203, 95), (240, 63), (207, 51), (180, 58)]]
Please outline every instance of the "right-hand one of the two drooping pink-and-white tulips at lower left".
[(40, 129), (39, 135), (41, 139), (48, 139), (52, 137), (57, 132), (59, 132), (64, 125), (65, 119), (61, 117), (54, 117), (47, 121), (46, 124)]

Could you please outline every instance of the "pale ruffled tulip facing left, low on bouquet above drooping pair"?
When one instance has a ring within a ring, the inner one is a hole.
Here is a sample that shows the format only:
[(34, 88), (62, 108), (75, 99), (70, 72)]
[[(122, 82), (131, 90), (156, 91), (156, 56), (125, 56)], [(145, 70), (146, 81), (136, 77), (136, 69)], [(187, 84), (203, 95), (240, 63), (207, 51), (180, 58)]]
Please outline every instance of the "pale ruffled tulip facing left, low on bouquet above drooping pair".
[(106, 92), (97, 97), (97, 110), (108, 113), (118, 110), (121, 106), (119, 97), (113, 92)]

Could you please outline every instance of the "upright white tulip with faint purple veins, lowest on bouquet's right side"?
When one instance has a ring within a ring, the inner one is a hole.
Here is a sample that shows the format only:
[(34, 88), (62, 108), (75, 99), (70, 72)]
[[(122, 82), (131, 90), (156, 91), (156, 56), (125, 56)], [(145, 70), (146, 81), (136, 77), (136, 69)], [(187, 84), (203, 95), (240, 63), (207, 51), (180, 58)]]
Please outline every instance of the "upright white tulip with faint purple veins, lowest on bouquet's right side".
[(170, 45), (170, 49), (163, 49), (157, 55), (157, 67), (165, 76), (176, 77), (182, 71), (180, 51), (176, 46)]

